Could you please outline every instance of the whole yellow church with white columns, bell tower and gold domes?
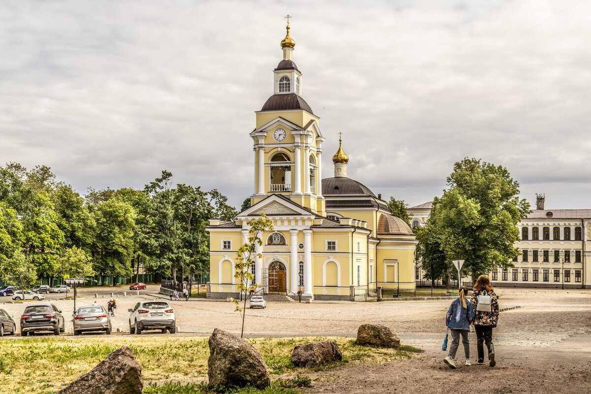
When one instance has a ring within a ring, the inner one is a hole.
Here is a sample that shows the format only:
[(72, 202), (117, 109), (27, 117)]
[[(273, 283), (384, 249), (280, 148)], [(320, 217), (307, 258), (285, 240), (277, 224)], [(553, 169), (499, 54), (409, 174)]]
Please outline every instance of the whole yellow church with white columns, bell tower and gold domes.
[(257, 246), (252, 266), (261, 294), (354, 300), (355, 289), (414, 288), (410, 227), (387, 203), (347, 177), (349, 158), (339, 139), (334, 177), (322, 178), (320, 118), (301, 96), (302, 73), (293, 61), (295, 41), (281, 41), (273, 94), (256, 111), (254, 194), (251, 207), (226, 222), (211, 219), (208, 297), (238, 297), (234, 262), (248, 239), (249, 220), (265, 214), (274, 230)]

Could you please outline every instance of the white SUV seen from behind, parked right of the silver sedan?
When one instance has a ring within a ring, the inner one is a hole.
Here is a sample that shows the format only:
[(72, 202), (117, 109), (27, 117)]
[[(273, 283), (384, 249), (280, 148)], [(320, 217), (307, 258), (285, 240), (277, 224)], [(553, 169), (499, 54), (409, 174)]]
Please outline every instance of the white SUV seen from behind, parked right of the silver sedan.
[(176, 333), (176, 320), (174, 319), (173, 308), (166, 301), (141, 301), (135, 308), (128, 309), (129, 333), (141, 334), (144, 330), (168, 330), (171, 334)]

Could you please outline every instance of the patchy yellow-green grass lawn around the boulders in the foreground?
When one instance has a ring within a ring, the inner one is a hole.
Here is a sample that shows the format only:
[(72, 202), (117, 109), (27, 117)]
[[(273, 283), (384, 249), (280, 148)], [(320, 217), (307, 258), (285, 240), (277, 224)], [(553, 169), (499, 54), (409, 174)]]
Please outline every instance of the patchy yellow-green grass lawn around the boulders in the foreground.
[[(291, 363), (291, 351), (310, 341), (335, 340), (343, 351), (343, 362), (314, 370), (297, 368)], [(383, 363), (407, 359), (421, 350), (411, 346), (376, 349), (357, 346), (351, 338), (255, 338), (249, 340), (269, 367), (274, 384), (268, 390), (242, 389), (236, 393), (295, 393), (298, 380), (286, 379), (307, 372), (329, 370), (350, 361)], [(0, 340), (0, 387), (11, 393), (54, 393), (102, 361), (112, 350), (129, 346), (142, 367), (146, 394), (206, 393), (207, 338), (161, 336), (89, 336), (76, 339), (42, 337)], [(300, 378), (301, 380), (301, 378)], [(176, 382), (183, 382), (178, 384)], [(162, 383), (168, 383), (161, 386)], [(155, 386), (158, 383), (160, 386)], [(299, 384), (299, 383), (298, 383)]]

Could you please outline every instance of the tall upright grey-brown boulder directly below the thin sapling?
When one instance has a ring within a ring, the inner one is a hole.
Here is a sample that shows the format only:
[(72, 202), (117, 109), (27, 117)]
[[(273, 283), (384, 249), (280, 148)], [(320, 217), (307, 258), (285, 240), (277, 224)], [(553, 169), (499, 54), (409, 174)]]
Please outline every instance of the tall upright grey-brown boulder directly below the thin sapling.
[(209, 337), (207, 377), (210, 389), (246, 385), (264, 389), (271, 385), (271, 376), (261, 353), (242, 338), (219, 328)]

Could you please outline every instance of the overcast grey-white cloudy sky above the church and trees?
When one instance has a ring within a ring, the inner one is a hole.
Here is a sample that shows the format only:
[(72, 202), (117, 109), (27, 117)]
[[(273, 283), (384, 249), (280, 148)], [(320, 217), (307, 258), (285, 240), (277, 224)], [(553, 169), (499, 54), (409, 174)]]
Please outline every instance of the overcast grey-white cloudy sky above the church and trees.
[(0, 164), (82, 194), (165, 169), (240, 206), (286, 14), (324, 177), (343, 132), (349, 177), (411, 206), (476, 157), (531, 203), (591, 208), (586, 0), (4, 0)]

